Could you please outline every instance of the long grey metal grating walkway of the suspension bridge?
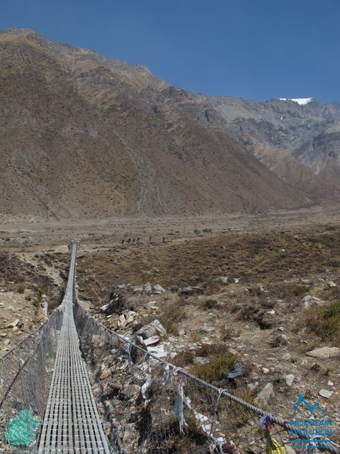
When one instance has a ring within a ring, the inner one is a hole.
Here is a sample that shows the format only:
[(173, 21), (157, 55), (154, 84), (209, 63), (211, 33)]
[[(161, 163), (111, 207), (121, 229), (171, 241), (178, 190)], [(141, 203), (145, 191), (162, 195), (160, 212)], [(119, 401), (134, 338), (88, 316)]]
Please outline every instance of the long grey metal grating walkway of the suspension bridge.
[(81, 359), (73, 317), (74, 270), (77, 240), (72, 241), (64, 321), (50, 394), (42, 424), (38, 454), (110, 453), (86, 365)]

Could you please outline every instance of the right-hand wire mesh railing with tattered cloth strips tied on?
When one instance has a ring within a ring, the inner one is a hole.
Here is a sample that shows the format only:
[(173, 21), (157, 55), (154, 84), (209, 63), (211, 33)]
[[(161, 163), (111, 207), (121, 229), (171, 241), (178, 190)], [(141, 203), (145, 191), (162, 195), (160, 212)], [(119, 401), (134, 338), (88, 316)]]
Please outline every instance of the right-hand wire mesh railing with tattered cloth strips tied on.
[(283, 454), (324, 448), (340, 453), (328, 438), (306, 442), (288, 422), (155, 357), (79, 304), (75, 319), (113, 452)]

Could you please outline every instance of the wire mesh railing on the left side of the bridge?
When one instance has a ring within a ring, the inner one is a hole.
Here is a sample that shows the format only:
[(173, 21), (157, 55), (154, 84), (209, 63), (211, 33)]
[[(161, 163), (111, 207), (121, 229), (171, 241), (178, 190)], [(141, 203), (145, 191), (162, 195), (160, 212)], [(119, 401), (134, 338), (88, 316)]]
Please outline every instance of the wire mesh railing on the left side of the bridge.
[(63, 311), (0, 357), (0, 452), (34, 452), (55, 363)]

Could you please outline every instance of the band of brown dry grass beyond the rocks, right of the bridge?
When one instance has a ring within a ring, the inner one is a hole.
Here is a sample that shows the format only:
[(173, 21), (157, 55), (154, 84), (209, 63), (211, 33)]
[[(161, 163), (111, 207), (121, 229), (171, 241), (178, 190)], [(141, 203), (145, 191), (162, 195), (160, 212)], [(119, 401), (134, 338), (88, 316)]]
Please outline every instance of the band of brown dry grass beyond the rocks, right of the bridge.
[[(340, 232), (305, 234), (302, 242), (294, 234), (245, 233), (192, 238), (182, 243), (135, 245), (87, 254), (79, 260), (79, 285), (89, 297), (106, 298), (114, 284), (151, 282), (163, 286), (198, 285), (206, 295), (219, 292), (217, 276), (240, 277), (254, 285), (270, 277), (269, 292), (280, 297), (300, 297), (309, 287), (283, 282), (294, 275), (309, 276), (337, 270), (340, 263)], [(329, 248), (331, 245), (331, 248)], [(284, 250), (284, 251), (283, 251)], [(156, 270), (158, 272), (156, 272)], [(278, 292), (278, 293), (277, 293)], [(254, 295), (261, 290), (254, 288)]]

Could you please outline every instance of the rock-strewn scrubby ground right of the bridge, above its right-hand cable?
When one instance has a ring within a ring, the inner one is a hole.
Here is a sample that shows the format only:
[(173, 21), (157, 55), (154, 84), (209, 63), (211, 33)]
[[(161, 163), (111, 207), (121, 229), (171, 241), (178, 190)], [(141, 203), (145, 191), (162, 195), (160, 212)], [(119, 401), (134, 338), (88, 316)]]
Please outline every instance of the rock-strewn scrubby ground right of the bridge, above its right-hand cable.
[[(283, 419), (301, 393), (339, 423), (339, 252), (340, 231), (327, 226), (115, 245), (79, 257), (79, 296), (119, 333), (159, 320), (162, 357)], [(242, 362), (242, 377), (200, 367), (221, 352)]]

